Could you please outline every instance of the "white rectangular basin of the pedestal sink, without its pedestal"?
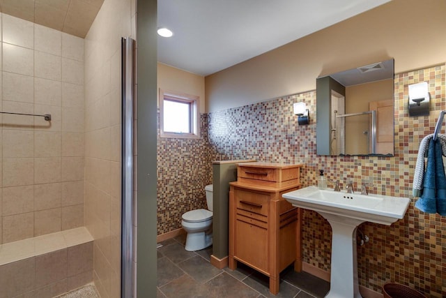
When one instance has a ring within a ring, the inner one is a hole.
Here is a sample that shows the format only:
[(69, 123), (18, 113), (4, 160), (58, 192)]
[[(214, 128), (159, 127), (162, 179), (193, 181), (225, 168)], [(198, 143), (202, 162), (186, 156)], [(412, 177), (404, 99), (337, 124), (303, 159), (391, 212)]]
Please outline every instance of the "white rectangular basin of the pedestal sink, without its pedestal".
[(408, 198), (321, 190), (316, 186), (291, 191), (283, 197), (296, 207), (383, 225), (403, 218), (410, 202)]

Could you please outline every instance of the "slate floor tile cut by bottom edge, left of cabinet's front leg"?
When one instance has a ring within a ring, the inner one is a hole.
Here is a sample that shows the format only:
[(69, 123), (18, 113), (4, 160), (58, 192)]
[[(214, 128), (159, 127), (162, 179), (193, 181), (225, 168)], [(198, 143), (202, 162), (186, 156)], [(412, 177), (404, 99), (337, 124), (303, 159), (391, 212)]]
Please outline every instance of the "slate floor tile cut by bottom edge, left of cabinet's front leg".
[(230, 276), (226, 272), (216, 276), (206, 283), (208, 285), (208, 293), (210, 297), (217, 298), (256, 298), (259, 297), (259, 293), (249, 288), (244, 283), (237, 280), (233, 276)]

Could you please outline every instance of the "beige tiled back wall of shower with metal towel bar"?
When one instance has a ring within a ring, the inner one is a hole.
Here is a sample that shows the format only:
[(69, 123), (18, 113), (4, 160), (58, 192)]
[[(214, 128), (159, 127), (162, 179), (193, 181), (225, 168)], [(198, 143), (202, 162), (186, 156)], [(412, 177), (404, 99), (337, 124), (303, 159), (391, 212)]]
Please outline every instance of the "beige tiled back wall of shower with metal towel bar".
[(0, 16), (4, 244), (84, 225), (84, 40)]

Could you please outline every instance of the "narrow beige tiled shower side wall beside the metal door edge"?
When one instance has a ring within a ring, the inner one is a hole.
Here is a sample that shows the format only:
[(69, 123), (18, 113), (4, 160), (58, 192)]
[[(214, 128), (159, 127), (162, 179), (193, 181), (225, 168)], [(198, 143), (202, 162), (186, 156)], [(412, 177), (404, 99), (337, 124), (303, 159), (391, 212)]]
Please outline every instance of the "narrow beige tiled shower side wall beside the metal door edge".
[(121, 37), (134, 1), (105, 0), (85, 38), (85, 224), (102, 298), (121, 297)]

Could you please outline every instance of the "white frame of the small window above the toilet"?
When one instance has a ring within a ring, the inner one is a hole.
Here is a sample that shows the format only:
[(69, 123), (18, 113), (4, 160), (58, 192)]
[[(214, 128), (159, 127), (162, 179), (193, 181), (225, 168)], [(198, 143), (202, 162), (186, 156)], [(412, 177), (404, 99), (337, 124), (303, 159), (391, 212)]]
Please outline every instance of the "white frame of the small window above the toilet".
[[(190, 131), (191, 133), (173, 133), (164, 131), (164, 100), (174, 100), (180, 103), (190, 104)], [(176, 139), (199, 139), (199, 96), (182, 94), (175, 91), (160, 89), (160, 137), (171, 137)]]

